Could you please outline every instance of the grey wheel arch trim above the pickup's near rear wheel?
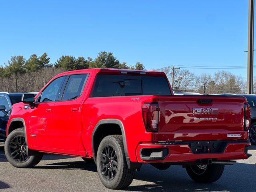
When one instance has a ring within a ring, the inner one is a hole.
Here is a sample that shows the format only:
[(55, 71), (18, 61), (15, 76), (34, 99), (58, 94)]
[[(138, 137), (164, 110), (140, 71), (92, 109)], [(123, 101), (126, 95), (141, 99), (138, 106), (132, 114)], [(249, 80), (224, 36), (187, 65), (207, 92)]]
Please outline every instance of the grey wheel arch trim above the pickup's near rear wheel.
[(122, 124), (122, 121), (119, 119), (103, 119), (100, 120), (96, 126), (94, 127), (94, 130), (92, 132), (92, 154), (93, 154), (93, 159), (94, 162), (96, 163), (96, 154), (98, 150), (98, 146), (96, 145), (96, 136), (98, 131), (102, 128), (103, 125), (117, 125), (120, 127), (120, 133), (122, 134), (123, 142), (124, 142), (124, 154), (126, 158), (126, 162), (128, 167), (130, 168), (130, 158), (128, 156), (128, 150), (127, 150), (127, 144), (126, 144), (126, 136), (125, 136), (125, 131), (124, 131), (124, 125)]

